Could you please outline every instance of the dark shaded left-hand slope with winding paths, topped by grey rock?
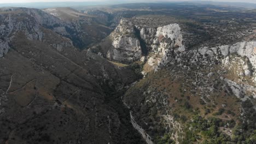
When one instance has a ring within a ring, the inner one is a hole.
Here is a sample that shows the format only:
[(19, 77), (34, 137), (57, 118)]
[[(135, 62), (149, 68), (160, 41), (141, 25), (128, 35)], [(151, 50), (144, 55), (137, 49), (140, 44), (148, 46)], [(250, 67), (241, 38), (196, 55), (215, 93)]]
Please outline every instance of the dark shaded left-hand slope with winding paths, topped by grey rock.
[(0, 143), (140, 141), (118, 101), (137, 79), (129, 67), (75, 49), (54, 32), (61, 21), (43, 11), (0, 16)]

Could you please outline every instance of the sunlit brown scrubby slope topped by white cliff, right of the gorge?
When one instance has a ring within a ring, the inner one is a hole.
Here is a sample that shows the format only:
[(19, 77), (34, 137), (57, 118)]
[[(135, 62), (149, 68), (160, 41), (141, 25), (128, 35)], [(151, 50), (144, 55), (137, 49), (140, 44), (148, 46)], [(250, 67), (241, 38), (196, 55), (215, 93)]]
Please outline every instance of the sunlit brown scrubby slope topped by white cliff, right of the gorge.
[[(176, 143), (252, 143), (256, 113), (254, 45), (255, 41), (231, 45), (226, 49), (234, 51), (226, 56), (219, 47), (172, 55), (164, 67), (149, 72), (126, 92), (124, 102), (134, 121), (155, 143), (169, 139)], [(206, 126), (200, 127), (200, 121)], [(216, 130), (208, 130), (210, 127)], [(238, 140), (240, 136), (244, 138)]]

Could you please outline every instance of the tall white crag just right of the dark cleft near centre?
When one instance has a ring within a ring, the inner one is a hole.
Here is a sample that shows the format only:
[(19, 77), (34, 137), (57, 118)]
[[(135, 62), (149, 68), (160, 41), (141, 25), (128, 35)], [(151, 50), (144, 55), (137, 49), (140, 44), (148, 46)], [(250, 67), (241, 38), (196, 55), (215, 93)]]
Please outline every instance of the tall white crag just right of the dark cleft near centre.
[[(165, 65), (169, 61), (168, 58), (171, 58), (170, 53), (185, 51), (185, 46), (182, 44), (181, 28), (177, 23), (157, 28), (139, 26), (137, 28), (140, 30), (141, 38), (145, 41), (147, 49), (151, 53), (147, 58), (147, 64), (150, 65), (152, 70), (158, 70), (158, 67)], [(143, 73), (145, 74), (146, 71)]]

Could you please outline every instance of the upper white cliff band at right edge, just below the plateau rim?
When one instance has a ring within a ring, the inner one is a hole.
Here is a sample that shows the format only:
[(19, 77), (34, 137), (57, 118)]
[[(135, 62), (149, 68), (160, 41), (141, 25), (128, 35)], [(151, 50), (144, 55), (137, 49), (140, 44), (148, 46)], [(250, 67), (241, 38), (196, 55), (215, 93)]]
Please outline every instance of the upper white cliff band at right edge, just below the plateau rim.
[(222, 64), (224, 68), (231, 70), (236, 68), (236, 74), (239, 76), (253, 75), (255, 81), (256, 55), (254, 53), (255, 41), (243, 41), (233, 45), (223, 45), (219, 47), (202, 47), (199, 49), (201, 55), (222, 55)]

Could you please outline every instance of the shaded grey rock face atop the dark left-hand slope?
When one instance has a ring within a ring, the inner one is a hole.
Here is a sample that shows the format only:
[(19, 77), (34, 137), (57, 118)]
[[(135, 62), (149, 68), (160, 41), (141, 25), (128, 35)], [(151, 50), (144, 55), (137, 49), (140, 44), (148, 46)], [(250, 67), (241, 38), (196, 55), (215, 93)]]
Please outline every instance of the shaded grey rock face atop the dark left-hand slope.
[[(55, 27), (51, 29), (63, 28), (62, 32), (58, 32), (54, 35), (49, 35), (48, 27), (61, 26), (63, 23), (54, 16), (43, 13), (38, 9), (27, 9), (27, 8), (10, 8), (1, 9), (3, 15), (1, 19), (1, 55), (7, 53), (9, 50), (9, 42), (12, 41), (15, 35), (24, 33), (25, 37), (30, 40), (39, 40), (49, 43), (55, 47), (55, 49), (62, 50), (63, 47), (72, 47), (73, 43), (70, 39), (62, 37), (65, 35), (66, 29), (64, 27)], [(59, 35), (60, 34), (60, 35)], [(47, 37), (45, 37), (47, 35)], [(51, 38), (49, 38), (49, 37)], [(61, 39), (55, 41), (56, 39)]]

